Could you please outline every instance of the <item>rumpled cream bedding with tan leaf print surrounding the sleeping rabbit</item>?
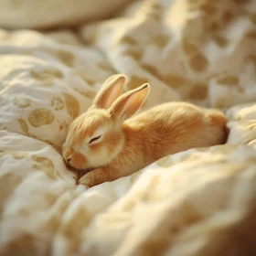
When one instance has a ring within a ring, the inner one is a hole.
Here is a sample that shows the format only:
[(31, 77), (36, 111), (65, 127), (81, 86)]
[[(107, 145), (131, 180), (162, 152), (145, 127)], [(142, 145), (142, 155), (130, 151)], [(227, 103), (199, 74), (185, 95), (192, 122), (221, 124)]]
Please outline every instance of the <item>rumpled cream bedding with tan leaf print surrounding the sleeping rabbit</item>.
[[(130, 1), (76, 29), (37, 27), (0, 30), (0, 255), (255, 255), (256, 2)], [(227, 144), (76, 186), (61, 144), (114, 73), (126, 90), (150, 82), (142, 111), (226, 112)]]

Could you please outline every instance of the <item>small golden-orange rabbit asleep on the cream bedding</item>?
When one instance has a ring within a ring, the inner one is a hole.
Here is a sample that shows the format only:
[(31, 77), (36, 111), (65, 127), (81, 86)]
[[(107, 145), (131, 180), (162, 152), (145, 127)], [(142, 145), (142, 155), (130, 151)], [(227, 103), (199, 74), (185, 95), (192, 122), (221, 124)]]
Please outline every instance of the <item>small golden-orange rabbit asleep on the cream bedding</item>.
[(107, 79), (91, 107), (69, 126), (62, 155), (67, 165), (88, 171), (78, 184), (93, 187), (129, 176), (165, 155), (225, 143), (222, 112), (187, 102), (167, 102), (137, 112), (148, 83), (123, 93), (123, 74)]

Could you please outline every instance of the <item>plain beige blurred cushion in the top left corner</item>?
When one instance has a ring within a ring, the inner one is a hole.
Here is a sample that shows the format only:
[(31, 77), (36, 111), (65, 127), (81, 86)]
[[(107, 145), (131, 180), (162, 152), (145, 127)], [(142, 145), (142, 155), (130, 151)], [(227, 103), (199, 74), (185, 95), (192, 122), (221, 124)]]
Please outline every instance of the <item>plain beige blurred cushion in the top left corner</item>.
[(109, 16), (128, 0), (0, 0), (0, 27), (37, 28), (75, 25)]

